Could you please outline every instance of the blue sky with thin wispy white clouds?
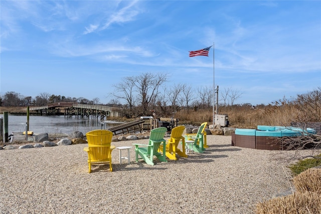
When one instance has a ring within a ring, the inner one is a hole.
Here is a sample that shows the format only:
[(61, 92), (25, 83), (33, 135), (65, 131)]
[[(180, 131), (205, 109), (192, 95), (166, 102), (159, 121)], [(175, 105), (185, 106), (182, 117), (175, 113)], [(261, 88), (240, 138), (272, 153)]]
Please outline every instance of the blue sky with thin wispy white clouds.
[[(1, 94), (98, 97), (142, 73), (269, 104), (321, 86), (320, 1), (0, 1)], [(213, 45), (209, 57), (189, 57)], [(220, 98), (219, 98), (220, 99)]]

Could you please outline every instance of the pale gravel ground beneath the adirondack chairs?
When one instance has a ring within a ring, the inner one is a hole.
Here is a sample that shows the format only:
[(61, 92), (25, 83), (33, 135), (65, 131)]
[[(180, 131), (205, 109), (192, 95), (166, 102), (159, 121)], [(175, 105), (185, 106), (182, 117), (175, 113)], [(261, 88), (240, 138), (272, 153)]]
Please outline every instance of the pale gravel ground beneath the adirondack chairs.
[(203, 154), (154, 166), (136, 163), (134, 147), (131, 163), (119, 164), (114, 149), (113, 172), (104, 165), (92, 173), (87, 144), (0, 150), (0, 213), (253, 213), (256, 203), (290, 187), (288, 163), (273, 158), (279, 151), (231, 146), (231, 136), (207, 141)]

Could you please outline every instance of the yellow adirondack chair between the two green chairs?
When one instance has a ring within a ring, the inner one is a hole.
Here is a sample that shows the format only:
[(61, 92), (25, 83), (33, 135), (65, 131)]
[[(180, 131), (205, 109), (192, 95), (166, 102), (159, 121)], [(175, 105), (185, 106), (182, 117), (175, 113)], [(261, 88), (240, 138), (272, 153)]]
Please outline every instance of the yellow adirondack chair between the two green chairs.
[[(166, 143), (166, 156), (171, 160), (177, 160), (176, 153), (181, 157), (187, 157), (185, 152), (185, 138), (182, 136), (185, 130), (185, 126), (178, 126), (172, 129), (171, 138)], [(180, 141), (182, 140), (183, 151), (178, 148)], [(163, 150), (163, 145), (159, 146), (158, 151)]]

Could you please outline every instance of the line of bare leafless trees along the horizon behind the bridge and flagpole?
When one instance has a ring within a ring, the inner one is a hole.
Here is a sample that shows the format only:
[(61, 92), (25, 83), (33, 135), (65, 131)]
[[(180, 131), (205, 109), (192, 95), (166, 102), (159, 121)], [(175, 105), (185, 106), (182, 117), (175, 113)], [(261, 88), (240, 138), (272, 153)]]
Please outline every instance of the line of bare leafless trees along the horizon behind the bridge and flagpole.
[[(173, 112), (181, 110), (187, 113), (200, 109), (212, 111), (213, 99), (217, 100), (213, 86), (201, 86), (195, 89), (186, 83), (177, 83), (165, 87), (168, 80), (168, 73), (142, 73), (138, 76), (125, 77), (121, 82), (112, 85), (114, 90), (109, 94), (112, 99), (105, 104), (100, 103), (97, 97), (89, 100), (84, 97), (71, 98), (46, 92), (31, 97), (11, 91), (1, 96), (2, 106), (45, 106), (55, 102), (73, 102), (121, 107), (124, 116), (127, 117), (150, 115), (150, 110), (155, 110), (159, 116), (171, 116)], [(219, 106), (235, 105), (242, 94), (243, 92), (232, 88), (220, 90)], [(252, 107), (250, 103), (243, 105)]]

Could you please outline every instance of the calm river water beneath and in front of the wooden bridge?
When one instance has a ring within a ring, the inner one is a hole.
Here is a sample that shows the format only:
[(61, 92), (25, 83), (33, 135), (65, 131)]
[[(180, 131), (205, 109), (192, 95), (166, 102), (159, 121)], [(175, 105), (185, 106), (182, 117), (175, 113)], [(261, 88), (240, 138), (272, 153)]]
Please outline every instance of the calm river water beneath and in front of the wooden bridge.
[[(3, 115), (0, 115), (3, 117)], [(110, 128), (120, 123), (105, 121), (105, 128)], [(27, 116), (8, 116), (8, 131), (25, 131)], [(101, 121), (98, 119), (65, 118), (65, 116), (29, 116), (29, 130), (34, 133), (66, 133), (81, 131), (86, 134), (88, 131), (101, 129)]]

